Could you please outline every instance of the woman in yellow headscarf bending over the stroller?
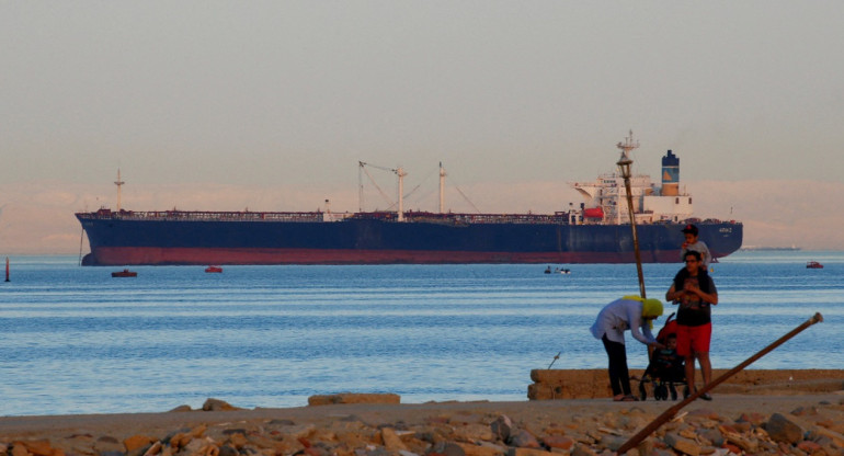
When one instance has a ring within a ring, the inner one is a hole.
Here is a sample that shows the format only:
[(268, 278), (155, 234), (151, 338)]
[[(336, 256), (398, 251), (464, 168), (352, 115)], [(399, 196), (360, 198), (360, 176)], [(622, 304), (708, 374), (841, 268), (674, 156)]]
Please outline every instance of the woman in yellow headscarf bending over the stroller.
[(597, 315), (590, 331), (595, 339), (604, 343), (609, 357), (609, 385), (613, 400), (634, 401), (630, 391), (630, 374), (627, 371), (627, 351), (624, 332), (630, 330), (634, 339), (649, 347), (662, 349), (662, 344), (651, 333), (653, 320), (662, 315), (659, 299), (642, 299), (638, 296), (625, 296), (607, 304)]

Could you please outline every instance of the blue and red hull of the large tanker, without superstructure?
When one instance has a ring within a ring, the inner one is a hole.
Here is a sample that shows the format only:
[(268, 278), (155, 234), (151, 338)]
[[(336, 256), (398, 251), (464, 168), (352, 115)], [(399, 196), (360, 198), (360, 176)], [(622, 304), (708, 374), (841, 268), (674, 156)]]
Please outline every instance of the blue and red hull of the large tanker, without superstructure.
[[(631, 263), (629, 225), (442, 224), (380, 219), (223, 221), (78, 214), (85, 265)], [(680, 261), (682, 225), (637, 227), (641, 260)], [(714, 258), (741, 247), (742, 225), (698, 224)]]

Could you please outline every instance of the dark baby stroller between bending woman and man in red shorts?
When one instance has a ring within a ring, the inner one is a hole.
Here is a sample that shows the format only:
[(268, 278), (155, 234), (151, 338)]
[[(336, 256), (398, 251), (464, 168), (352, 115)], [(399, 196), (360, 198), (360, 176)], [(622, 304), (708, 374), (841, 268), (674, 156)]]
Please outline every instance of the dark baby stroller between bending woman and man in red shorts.
[[(663, 350), (657, 350), (651, 355), (648, 368), (645, 369), (641, 381), (639, 381), (639, 398), (648, 398), (647, 384), (652, 384), (653, 398), (657, 400), (677, 400), (676, 385), (685, 385), (684, 360), (676, 352), (677, 322), (674, 320), (674, 314), (665, 319), (665, 324), (657, 333), (657, 341), (666, 346)], [(674, 343), (671, 343), (674, 339)], [(673, 345), (673, 346), (670, 346)]]

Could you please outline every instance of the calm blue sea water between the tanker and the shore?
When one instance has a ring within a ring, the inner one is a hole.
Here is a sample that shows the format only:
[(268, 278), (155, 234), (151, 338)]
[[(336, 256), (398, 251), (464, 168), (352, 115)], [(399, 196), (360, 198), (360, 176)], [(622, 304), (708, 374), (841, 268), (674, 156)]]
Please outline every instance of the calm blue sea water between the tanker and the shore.
[[(11, 259), (0, 282), (0, 415), (156, 412), (206, 398), (298, 407), (308, 396), (526, 400), (529, 372), (603, 368), (589, 327), (638, 293), (636, 266), (81, 267)], [(807, 270), (808, 260), (825, 265)], [(662, 297), (680, 264), (646, 264)], [(715, 265), (712, 364), (730, 368), (809, 319), (751, 368), (844, 368), (844, 252), (739, 252)], [(671, 306), (666, 306), (671, 311)], [(658, 320), (657, 326), (662, 324)], [(631, 367), (645, 346), (628, 334)]]

